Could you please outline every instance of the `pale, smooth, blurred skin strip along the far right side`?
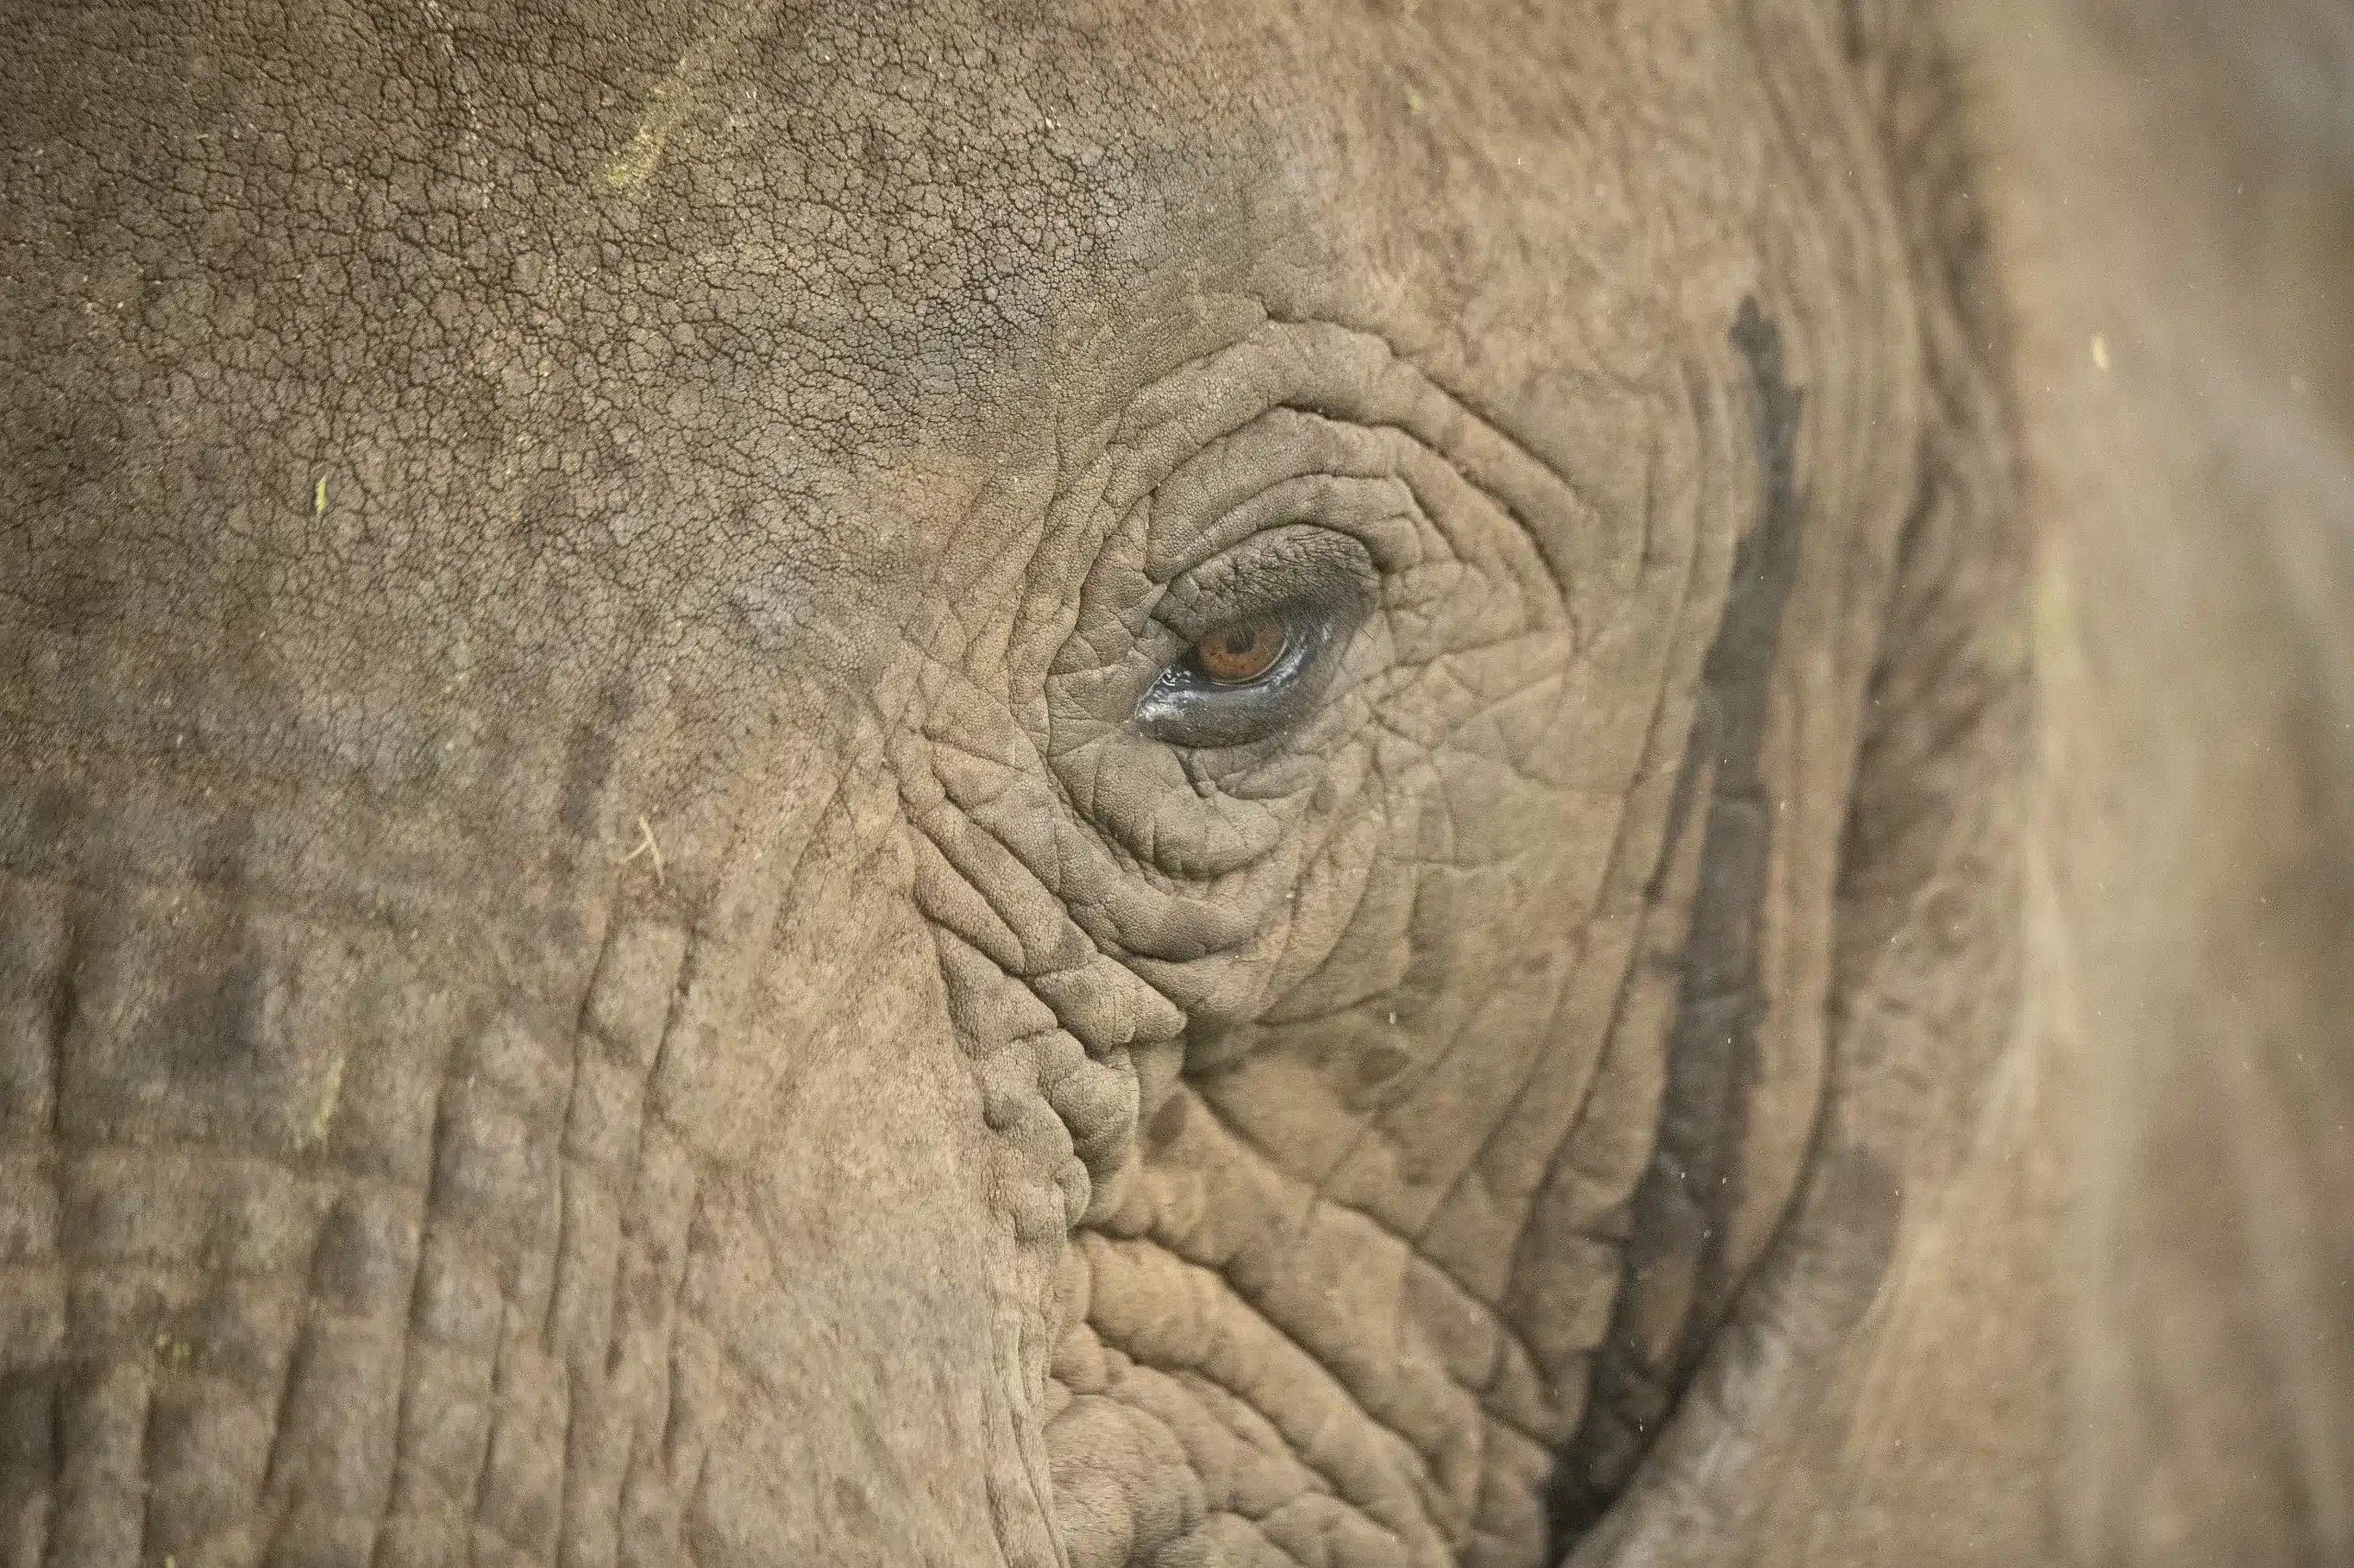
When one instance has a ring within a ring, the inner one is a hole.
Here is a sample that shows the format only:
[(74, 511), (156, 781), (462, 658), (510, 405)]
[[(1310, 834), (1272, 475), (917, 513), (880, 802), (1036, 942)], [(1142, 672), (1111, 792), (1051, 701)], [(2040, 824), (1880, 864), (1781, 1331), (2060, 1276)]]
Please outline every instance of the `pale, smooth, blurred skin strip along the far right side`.
[(2060, 1377), (2013, 1490), (2072, 1561), (2354, 1561), (2354, 33), (1951, 12), (2036, 520)]

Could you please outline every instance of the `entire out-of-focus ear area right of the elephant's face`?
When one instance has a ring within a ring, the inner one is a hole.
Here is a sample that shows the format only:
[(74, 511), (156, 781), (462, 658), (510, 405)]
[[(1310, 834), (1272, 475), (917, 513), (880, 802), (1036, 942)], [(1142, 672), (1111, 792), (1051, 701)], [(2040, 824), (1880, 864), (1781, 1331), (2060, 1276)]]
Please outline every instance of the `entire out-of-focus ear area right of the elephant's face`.
[(2342, 24), (1756, 9), (1867, 106), (1933, 398), (1803, 1177), (1572, 1561), (2340, 1561)]

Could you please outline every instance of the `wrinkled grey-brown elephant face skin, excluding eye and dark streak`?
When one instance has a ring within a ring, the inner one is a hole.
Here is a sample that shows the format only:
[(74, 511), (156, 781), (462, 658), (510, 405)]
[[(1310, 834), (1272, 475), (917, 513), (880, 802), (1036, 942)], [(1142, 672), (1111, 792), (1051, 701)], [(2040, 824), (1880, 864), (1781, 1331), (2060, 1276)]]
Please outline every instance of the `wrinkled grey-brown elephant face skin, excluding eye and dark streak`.
[[(1820, 1071), (1928, 424), (1834, 42), (14, 7), (7, 1549), (1547, 1561), (1796, 1184), (1766, 1107), (1615, 1318), (1744, 299), (1817, 516), (1725, 897)], [(1139, 735), (1276, 523), (1335, 685)]]

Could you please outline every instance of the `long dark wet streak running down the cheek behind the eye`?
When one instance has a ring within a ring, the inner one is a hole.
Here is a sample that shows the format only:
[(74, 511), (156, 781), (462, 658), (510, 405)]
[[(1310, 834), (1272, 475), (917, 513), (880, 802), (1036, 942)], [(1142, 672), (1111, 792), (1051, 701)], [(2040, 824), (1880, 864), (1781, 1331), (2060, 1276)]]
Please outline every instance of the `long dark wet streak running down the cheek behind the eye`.
[(1744, 299), (1733, 346), (1749, 363), (1761, 469), (1756, 527), (1733, 556), (1723, 619), (1702, 664), (1700, 704), (1669, 808), (1669, 845), (1707, 791), (1700, 890), (1681, 961), (1667, 1090), (1650, 1168), (1634, 1196), (1627, 1281), (1596, 1356), (1594, 1396), (1554, 1483), (1554, 1540), (1577, 1540), (1627, 1486), (1674, 1410), (1737, 1281), (1725, 1278), (1718, 1217), (1740, 1198), (1733, 1140), (1751, 1088), (1766, 1010), (1758, 932), (1773, 800), (1758, 779), (1782, 605), (1798, 577), (1806, 497), (1796, 485), (1803, 396), (1782, 372), (1782, 334)]

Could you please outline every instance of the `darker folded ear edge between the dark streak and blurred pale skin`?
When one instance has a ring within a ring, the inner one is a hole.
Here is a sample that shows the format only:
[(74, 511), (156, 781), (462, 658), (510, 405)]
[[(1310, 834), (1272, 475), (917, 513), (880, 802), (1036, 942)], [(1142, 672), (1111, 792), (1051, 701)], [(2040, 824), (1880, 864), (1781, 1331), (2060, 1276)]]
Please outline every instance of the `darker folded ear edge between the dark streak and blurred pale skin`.
[(1878, 181), (1838, 240), (1888, 346), (1815, 344), (1808, 372), (1770, 318), (1735, 327), (1758, 520), (1688, 760), (1700, 899), (1657, 1154), (1563, 1471), (1580, 1568), (1810, 1540), (1806, 1507), (1874, 1469), (1836, 1450), (1888, 1401), (1888, 1302), (1956, 1262), (1956, 1222), (2010, 1224), (1989, 1205), (2015, 1196), (1956, 1184), (2024, 1109), (2029, 685), (2008, 332), (1961, 94), (1914, 7), (1756, 9), (1801, 148)]

